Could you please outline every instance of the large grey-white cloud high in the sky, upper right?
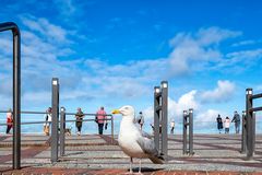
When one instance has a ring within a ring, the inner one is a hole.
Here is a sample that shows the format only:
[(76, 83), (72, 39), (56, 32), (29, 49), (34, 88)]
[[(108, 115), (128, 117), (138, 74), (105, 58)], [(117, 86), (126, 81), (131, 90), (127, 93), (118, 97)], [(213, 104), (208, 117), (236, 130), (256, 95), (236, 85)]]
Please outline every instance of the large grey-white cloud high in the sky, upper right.
[(217, 62), (223, 56), (217, 45), (222, 40), (239, 35), (240, 32), (219, 27), (200, 28), (195, 34), (177, 34), (170, 40), (174, 50), (168, 57), (171, 75), (203, 70), (210, 62)]

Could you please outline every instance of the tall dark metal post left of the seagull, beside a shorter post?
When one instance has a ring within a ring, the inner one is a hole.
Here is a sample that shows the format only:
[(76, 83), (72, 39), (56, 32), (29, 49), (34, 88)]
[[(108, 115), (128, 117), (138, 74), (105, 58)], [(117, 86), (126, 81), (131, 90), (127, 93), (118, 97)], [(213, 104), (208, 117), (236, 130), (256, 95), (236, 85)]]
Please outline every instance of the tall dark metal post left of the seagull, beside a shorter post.
[(52, 78), (51, 163), (58, 161), (59, 82)]

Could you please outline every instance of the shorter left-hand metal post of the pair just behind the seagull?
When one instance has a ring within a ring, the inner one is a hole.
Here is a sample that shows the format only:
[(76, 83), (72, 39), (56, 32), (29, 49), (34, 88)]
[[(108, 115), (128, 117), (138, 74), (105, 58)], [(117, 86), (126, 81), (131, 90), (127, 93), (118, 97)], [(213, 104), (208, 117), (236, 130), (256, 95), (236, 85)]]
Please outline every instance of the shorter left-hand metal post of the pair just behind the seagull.
[(157, 106), (159, 106), (159, 97), (160, 88), (154, 88), (154, 141), (156, 149), (159, 150), (159, 110), (157, 110)]

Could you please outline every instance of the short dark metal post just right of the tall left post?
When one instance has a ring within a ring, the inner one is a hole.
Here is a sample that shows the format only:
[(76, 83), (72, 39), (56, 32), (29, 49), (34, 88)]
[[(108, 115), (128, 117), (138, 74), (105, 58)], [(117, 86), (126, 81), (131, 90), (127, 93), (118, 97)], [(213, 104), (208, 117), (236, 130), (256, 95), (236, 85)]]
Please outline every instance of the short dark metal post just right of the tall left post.
[(61, 107), (60, 110), (60, 155), (64, 155), (64, 130), (66, 130), (66, 108)]

